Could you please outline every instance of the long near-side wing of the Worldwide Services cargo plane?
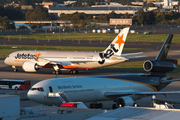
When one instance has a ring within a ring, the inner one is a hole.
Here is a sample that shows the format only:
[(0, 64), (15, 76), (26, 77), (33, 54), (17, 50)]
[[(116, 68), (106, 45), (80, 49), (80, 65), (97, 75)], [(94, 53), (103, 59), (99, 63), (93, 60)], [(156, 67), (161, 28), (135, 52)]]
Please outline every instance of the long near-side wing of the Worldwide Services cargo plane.
[(105, 92), (106, 97), (121, 97), (127, 95), (167, 95), (167, 94), (180, 94), (180, 91), (158, 91), (158, 92)]

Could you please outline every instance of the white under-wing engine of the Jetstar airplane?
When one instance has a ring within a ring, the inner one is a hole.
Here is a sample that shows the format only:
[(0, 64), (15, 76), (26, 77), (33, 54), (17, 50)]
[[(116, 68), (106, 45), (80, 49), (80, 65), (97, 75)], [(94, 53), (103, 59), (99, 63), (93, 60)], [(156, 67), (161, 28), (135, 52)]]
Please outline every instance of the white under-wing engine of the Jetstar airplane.
[(26, 72), (36, 72), (39, 70), (39, 65), (33, 61), (27, 61), (22, 64), (22, 68)]

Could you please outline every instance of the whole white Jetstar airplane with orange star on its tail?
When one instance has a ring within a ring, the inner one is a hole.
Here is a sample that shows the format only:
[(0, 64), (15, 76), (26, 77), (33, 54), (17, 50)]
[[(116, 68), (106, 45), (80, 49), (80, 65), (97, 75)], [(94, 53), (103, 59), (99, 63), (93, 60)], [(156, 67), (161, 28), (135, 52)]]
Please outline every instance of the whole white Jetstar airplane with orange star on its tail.
[(11, 65), (14, 71), (17, 71), (18, 66), (22, 66), (26, 72), (36, 72), (40, 68), (54, 68), (54, 74), (59, 74), (60, 69), (70, 69), (70, 73), (78, 73), (77, 69), (101, 68), (124, 62), (129, 59), (125, 56), (136, 54), (121, 54), (128, 32), (129, 28), (124, 28), (103, 52), (24, 50), (11, 53), (4, 62)]

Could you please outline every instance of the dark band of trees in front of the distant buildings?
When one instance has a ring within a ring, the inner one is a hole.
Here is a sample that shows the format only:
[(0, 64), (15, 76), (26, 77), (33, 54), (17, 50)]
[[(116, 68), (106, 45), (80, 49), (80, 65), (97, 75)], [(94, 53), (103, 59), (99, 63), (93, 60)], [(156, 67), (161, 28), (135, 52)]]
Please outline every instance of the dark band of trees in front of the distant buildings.
[[(21, 10), (19, 7), (3, 7), (0, 6), (0, 29), (14, 28), (9, 23), (11, 20), (52, 20), (48, 14), (48, 10), (37, 5), (33, 10)], [(149, 25), (149, 24), (180, 24), (180, 13), (178, 12), (160, 12), (158, 9), (154, 11), (144, 11), (140, 9), (136, 15), (116, 14), (112, 11), (109, 14), (89, 15), (85, 13), (75, 12), (73, 14), (62, 13), (60, 17), (53, 20), (70, 21), (74, 27), (88, 26), (92, 22), (109, 23), (110, 18), (131, 18), (133, 25)], [(9, 23), (9, 24), (8, 24)], [(31, 28), (41, 27), (45, 24), (31, 24)]]

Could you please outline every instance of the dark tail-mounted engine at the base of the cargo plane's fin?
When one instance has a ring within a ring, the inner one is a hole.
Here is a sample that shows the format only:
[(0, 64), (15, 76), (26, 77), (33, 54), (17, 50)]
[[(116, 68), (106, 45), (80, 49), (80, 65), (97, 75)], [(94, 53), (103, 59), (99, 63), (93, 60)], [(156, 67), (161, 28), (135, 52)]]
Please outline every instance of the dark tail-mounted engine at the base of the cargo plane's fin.
[(146, 60), (143, 64), (143, 68), (147, 72), (171, 72), (176, 68), (176, 65), (172, 62)]

